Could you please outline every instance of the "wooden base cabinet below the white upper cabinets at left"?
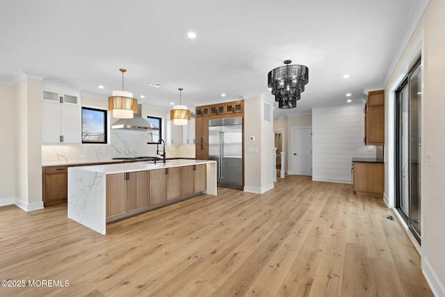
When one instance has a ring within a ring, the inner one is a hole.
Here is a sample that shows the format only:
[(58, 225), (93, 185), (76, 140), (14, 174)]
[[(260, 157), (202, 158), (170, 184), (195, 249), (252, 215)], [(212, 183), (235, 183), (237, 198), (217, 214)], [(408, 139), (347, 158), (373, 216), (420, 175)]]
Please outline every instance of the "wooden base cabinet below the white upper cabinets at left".
[(43, 206), (67, 202), (68, 166), (42, 167)]

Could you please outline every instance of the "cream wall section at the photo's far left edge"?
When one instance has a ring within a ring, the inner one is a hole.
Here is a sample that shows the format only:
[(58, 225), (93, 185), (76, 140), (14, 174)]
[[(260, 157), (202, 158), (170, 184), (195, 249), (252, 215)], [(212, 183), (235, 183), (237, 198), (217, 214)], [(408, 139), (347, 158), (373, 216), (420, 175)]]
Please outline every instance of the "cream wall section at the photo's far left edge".
[(14, 87), (0, 83), (0, 206), (15, 200), (15, 93)]

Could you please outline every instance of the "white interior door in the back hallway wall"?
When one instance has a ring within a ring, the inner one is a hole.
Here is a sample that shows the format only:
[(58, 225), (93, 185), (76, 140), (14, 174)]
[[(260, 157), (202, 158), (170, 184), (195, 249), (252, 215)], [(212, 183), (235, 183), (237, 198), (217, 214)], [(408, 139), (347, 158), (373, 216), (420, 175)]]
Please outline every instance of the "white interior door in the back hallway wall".
[(292, 162), (294, 175), (312, 175), (312, 128), (294, 128)]

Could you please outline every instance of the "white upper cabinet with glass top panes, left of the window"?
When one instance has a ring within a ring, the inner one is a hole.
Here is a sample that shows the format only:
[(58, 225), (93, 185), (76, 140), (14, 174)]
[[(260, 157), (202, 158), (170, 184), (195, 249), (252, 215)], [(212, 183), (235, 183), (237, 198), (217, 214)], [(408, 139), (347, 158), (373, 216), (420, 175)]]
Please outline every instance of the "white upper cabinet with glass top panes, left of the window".
[(81, 143), (81, 105), (76, 93), (44, 90), (42, 143)]

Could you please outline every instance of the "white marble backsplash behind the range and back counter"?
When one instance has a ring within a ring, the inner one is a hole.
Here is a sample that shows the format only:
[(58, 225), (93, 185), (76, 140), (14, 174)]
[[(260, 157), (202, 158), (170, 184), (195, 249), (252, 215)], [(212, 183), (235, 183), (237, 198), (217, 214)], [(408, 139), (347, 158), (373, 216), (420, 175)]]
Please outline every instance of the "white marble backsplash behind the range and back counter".
[[(109, 144), (42, 145), (42, 165), (156, 156), (156, 145), (147, 145), (145, 131), (111, 130), (108, 136)], [(165, 152), (167, 158), (195, 158), (194, 145), (166, 145)]]

